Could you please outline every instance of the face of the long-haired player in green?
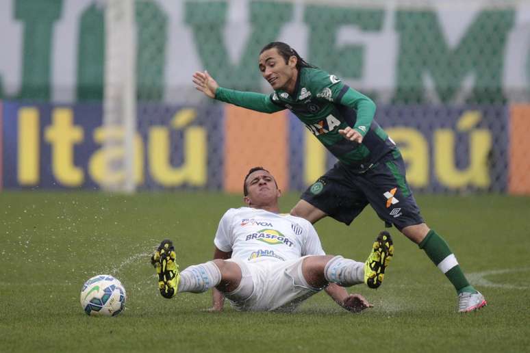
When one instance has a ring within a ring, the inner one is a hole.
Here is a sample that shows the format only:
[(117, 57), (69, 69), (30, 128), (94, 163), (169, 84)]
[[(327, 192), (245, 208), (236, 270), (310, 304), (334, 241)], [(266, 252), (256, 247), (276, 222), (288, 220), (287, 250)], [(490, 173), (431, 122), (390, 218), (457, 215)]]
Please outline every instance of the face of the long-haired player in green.
[(296, 86), (296, 57), (292, 56), (288, 62), (278, 53), (278, 49), (271, 48), (260, 54), (260, 71), (274, 90), (284, 90), (292, 93)]

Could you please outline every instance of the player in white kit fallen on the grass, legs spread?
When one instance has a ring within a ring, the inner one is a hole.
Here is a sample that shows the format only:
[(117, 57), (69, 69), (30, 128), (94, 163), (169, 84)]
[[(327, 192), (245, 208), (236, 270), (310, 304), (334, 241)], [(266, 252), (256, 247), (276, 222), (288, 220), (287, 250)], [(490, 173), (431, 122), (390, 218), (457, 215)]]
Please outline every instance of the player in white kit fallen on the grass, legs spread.
[(281, 192), (267, 170), (252, 168), (243, 190), (247, 207), (229, 209), (221, 218), (213, 261), (179, 272), (173, 243), (162, 241), (151, 262), (164, 298), (214, 288), (214, 311), (223, 309), (225, 298), (241, 311), (292, 311), (324, 289), (346, 310), (371, 306), (344, 287), (381, 285), (394, 253), (388, 232), (379, 234), (365, 262), (327, 255), (310, 222), (279, 213)]

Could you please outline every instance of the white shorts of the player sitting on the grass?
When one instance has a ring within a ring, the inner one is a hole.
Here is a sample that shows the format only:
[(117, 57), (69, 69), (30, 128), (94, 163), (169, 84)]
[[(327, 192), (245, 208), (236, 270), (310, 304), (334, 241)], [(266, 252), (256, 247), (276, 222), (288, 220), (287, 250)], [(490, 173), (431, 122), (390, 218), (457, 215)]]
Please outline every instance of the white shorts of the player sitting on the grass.
[(229, 259), (227, 261), (241, 268), (242, 280), (235, 291), (224, 293), (224, 296), (240, 311), (293, 311), (303, 300), (321, 290), (307, 284), (302, 274), (303, 259), (305, 257), (288, 261), (263, 257), (251, 261)]

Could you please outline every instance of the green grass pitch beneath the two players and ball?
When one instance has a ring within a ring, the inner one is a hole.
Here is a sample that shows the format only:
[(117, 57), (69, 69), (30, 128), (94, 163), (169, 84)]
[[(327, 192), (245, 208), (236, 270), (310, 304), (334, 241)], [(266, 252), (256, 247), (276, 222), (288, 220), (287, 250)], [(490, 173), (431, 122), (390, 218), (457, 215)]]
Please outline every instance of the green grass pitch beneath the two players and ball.
[[(281, 200), (288, 211), (298, 194)], [(218, 220), (240, 196), (207, 192), (0, 193), (0, 352), (529, 352), (530, 198), (417, 196), (488, 306), (455, 313), (449, 281), (395, 229), (374, 304), (348, 313), (325, 293), (296, 313), (208, 313), (210, 293), (166, 300), (149, 252), (164, 237), (181, 268), (211, 259)], [(329, 254), (364, 261), (383, 224), (367, 208), (352, 226), (316, 228)], [(118, 317), (88, 317), (85, 280), (113, 274), (127, 289)]]

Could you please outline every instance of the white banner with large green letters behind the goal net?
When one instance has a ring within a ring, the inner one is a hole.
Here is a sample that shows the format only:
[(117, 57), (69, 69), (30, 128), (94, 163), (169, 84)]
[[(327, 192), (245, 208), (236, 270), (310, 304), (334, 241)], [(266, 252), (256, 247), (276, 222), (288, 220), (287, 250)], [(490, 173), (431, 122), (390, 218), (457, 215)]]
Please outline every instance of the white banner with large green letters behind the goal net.
[[(113, 64), (103, 1), (5, 0), (0, 14), (0, 98), (102, 99)], [(136, 0), (135, 14), (141, 101), (197, 100), (190, 77), (203, 69), (222, 86), (268, 91), (257, 55), (273, 40), (379, 103), (530, 96), (525, 1)]]

